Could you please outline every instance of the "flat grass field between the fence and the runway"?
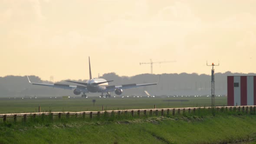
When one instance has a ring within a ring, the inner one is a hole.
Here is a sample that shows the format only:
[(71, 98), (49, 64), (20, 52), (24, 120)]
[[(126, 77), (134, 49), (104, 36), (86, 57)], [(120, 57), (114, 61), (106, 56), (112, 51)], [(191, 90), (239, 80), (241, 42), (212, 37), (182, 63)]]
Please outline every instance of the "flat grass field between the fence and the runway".
[[(93, 106), (92, 99), (95, 99)], [(188, 101), (166, 101), (188, 100)], [(216, 97), (216, 105), (226, 105), (226, 97)], [(140, 108), (184, 108), (203, 107), (211, 105), (210, 97), (170, 97), (170, 98), (1, 98), (0, 113), (22, 113), (41, 111), (101, 111), (102, 105), (105, 110), (124, 110)]]

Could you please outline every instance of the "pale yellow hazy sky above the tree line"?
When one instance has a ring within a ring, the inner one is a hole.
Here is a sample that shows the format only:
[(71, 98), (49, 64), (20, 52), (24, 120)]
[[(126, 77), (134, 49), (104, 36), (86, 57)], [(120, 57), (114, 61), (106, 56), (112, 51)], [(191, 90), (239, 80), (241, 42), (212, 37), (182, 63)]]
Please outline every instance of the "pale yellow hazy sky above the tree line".
[(1, 0), (0, 76), (256, 72), (255, 0)]

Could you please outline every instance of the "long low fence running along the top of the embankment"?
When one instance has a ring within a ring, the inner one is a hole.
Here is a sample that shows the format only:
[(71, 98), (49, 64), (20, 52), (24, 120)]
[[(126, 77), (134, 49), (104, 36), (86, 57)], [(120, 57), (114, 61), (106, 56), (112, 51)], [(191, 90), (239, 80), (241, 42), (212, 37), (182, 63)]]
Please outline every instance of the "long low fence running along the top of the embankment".
[(115, 110), (115, 111), (80, 111), (80, 112), (34, 112), (34, 113), (17, 113), (17, 114), (0, 114), (0, 118), (3, 118), (3, 121), (7, 121), (7, 118), (13, 118), (14, 121), (17, 121), (18, 117), (23, 117), (23, 121), (26, 121), (27, 117), (34, 117), (36, 116), (43, 116), (43, 115), (49, 115), (53, 119), (54, 115), (57, 115), (58, 118), (62, 118), (63, 115), (66, 115), (66, 118), (69, 118), (70, 115), (82, 115), (83, 118), (85, 118), (85, 115), (89, 115), (89, 118), (93, 118), (93, 115), (97, 115), (97, 117), (100, 117), (102, 114), (117, 114), (121, 115), (122, 113), (128, 114), (130, 113), (132, 117), (135, 117), (135, 114), (137, 113), (138, 117), (141, 115), (149, 115), (152, 116), (153, 113), (158, 116), (159, 113), (161, 113), (161, 116), (164, 116), (164, 113), (166, 112), (166, 115), (181, 115), (187, 111), (189, 114), (193, 114), (196, 112), (196, 110), (200, 111), (200, 109), (214, 109), (217, 112), (218, 111), (241, 111), (245, 113), (256, 113), (256, 105), (252, 106), (223, 106), (223, 107), (197, 107), (197, 108), (156, 108), (154, 105), (154, 109), (131, 109), (131, 110)]

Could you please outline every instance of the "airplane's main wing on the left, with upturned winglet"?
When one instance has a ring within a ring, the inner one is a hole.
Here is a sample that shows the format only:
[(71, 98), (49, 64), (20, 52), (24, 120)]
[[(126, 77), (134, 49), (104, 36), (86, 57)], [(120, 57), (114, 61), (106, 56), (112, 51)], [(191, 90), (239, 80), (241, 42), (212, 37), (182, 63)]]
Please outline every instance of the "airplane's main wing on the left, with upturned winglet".
[[(29, 82), (30, 82), (30, 78), (29, 76), (27, 76)], [(44, 83), (33, 83), (33, 82), (30, 82), (32, 85), (43, 85), (43, 86), (48, 86), (48, 87), (53, 87), (53, 88), (63, 88), (63, 89), (79, 89), (81, 90), (82, 92), (88, 92), (87, 88), (85, 86), (80, 86), (80, 85), (77, 85), (77, 86), (72, 86), (72, 85), (66, 85), (66, 84), (44, 84)]]

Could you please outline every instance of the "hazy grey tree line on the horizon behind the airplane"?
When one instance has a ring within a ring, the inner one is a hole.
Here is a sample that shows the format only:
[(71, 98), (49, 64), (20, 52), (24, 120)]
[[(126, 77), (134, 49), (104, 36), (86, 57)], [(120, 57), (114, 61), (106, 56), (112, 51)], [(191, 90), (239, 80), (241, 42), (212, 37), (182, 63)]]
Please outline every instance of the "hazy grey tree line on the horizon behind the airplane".
[[(227, 90), (228, 75), (256, 75), (255, 73), (215, 73), (215, 94), (225, 95)], [(109, 85), (122, 84), (141, 84), (157, 82), (159, 75), (140, 74), (135, 76), (119, 76), (114, 72), (106, 73), (100, 78), (106, 80), (114, 80)], [(43, 81), (38, 76), (31, 75), (30, 80), (36, 83), (53, 83)], [(76, 80), (86, 82), (84, 80)], [(211, 76), (197, 73), (170, 73), (161, 74), (161, 79), (158, 85), (125, 89), (122, 95), (146, 95), (144, 91), (148, 91), (151, 95), (210, 95), (211, 93)], [(69, 82), (60, 81), (55, 83), (75, 85)], [(73, 91), (60, 88), (50, 88), (46, 86), (31, 85), (26, 76), (8, 75), (0, 77), (0, 96), (1, 97), (49, 97), (49, 96), (75, 96)], [(98, 96), (99, 94), (89, 93), (88, 96)], [(114, 92), (112, 95), (115, 95)]]

